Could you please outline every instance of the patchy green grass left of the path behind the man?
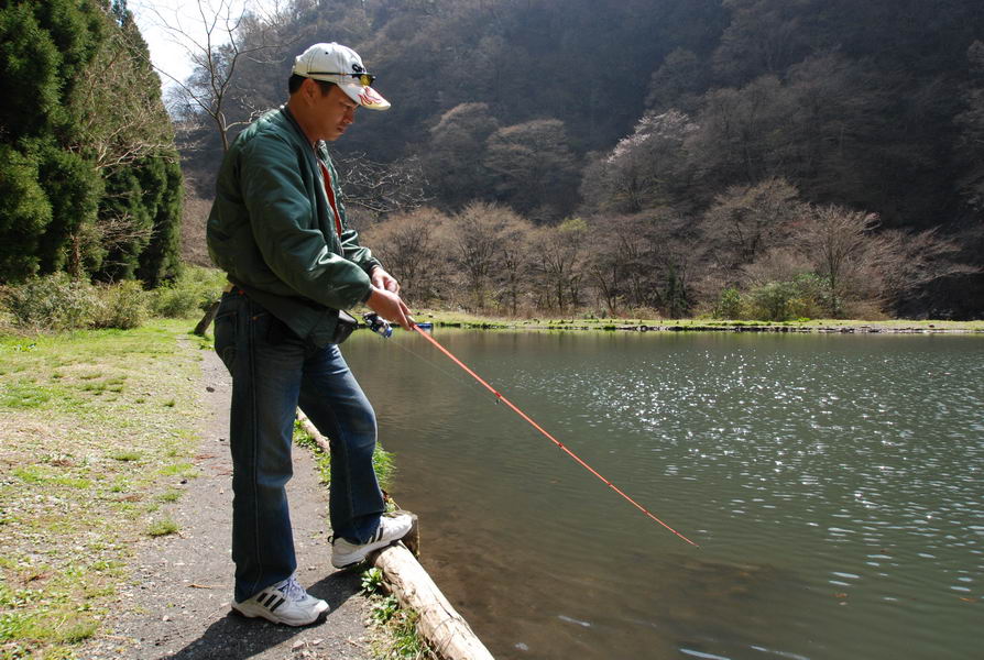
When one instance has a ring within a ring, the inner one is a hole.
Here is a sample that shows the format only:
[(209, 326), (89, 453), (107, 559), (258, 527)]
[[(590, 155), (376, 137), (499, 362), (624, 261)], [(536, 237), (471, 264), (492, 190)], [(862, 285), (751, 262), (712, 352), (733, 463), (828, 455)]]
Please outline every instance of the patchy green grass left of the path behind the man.
[(194, 476), (187, 321), (0, 336), (0, 658), (68, 658)]

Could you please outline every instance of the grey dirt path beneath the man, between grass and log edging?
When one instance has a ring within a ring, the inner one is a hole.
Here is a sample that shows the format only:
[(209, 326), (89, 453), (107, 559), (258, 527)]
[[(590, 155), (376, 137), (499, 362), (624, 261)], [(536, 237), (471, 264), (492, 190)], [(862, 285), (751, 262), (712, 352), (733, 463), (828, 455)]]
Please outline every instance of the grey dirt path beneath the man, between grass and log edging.
[(328, 659), (365, 660), (369, 632), (358, 573), (336, 571), (328, 543), (327, 490), (314, 461), (294, 450), (287, 486), (297, 548), (298, 580), (331, 606), (327, 619), (307, 628), (276, 626), (231, 614), (231, 461), (229, 377), (211, 351), (203, 351), (203, 441), (198, 477), (167, 505), (179, 535), (141, 542), (130, 580), (102, 631), (78, 653), (85, 659)]

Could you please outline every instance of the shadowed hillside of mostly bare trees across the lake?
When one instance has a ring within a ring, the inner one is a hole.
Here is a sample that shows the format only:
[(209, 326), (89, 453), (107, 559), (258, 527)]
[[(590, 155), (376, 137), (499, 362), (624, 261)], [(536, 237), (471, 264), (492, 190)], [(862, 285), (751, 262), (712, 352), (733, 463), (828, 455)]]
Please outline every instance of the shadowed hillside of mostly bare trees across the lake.
[[(402, 261), (453, 256), (428, 270), (422, 298), (463, 288), (482, 309), (671, 316), (984, 310), (978, 0), (295, 0), (239, 35), (264, 47), (238, 58), (233, 122), (284, 100), (310, 43), (351, 45), (379, 76), (392, 111), (363, 113), (334, 148), (369, 233), (414, 224), (430, 252), (404, 245)], [(193, 107), (181, 120), (207, 195), (217, 132)], [(478, 208), (513, 213), (523, 255), (469, 262), (461, 228)], [(554, 266), (550, 245), (569, 252)]]

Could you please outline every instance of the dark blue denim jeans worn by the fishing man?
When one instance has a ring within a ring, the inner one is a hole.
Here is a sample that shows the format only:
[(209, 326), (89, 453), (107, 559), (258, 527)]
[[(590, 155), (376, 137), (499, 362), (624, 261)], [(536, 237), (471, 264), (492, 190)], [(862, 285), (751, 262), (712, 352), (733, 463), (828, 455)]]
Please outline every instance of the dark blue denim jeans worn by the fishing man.
[(232, 561), (242, 602), (297, 568), (284, 486), (298, 405), (331, 444), (332, 532), (356, 543), (384, 510), (372, 469), (376, 425), (337, 345), (306, 342), (240, 293), (222, 296), (215, 322), (216, 352), (232, 375)]

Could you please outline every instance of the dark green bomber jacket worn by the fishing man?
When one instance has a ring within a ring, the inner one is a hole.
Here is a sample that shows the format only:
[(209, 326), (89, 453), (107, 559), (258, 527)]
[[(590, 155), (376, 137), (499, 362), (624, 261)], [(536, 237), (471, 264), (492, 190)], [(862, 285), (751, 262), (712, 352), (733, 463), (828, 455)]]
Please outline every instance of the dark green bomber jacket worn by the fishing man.
[(254, 121), (222, 161), (207, 238), (232, 284), (299, 337), (325, 345), (338, 310), (369, 299), (369, 273), (380, 262), (359, 245), (341, 201), (339, 239), (318, 158), (339, 200), (325, 143), (316, 153), (286, 107)]

